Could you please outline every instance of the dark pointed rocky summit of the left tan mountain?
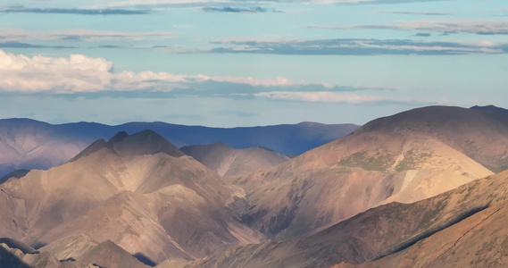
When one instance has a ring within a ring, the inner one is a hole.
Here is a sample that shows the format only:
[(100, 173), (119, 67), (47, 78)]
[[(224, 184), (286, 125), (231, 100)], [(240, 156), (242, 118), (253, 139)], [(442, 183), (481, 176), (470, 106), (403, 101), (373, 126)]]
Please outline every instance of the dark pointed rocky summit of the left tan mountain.
[(129, 135), (125, 131), (116, 134), (107, 142), (118, 155), (154, 155), (164, 153), (173, 157), (185, 155), (153, 130), (143, 130)]

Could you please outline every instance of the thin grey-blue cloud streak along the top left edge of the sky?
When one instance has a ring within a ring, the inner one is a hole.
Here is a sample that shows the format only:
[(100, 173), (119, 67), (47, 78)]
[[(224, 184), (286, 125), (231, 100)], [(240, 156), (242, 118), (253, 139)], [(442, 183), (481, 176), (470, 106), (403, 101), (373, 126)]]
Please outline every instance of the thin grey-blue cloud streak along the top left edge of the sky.
[(128, 9), (83, 9), (83, 8), (29, 8), (21, 4), (12, 5), (0, 10), (0, 13), (40, 13), (40, 14), (74, 14), (74, 15), (145, 15), (150, 10)]

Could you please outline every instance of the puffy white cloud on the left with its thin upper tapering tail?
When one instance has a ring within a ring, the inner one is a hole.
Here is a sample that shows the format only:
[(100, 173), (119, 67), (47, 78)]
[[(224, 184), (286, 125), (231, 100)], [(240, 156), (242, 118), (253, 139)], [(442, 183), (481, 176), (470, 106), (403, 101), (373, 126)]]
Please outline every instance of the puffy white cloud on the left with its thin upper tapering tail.
[[(257, 80), (251, 77), (180, 75), (154, 71), (112, 72), (112, 62), (104, 58), (91, 58), (83, 54), (71, 54), (69, 58), (41, 55), (27, 57), (0, 50), (0, 90), (9, 92), (73, 93), (98, 91), (171, 91), (187, 88), (192, 84), (216, 81), (250, 85), (254, 87), (295, 87), (310, 85), (304, 80), (288, 80), (277, 77)], [(329, 87), (324, 83), (316, 83)]]

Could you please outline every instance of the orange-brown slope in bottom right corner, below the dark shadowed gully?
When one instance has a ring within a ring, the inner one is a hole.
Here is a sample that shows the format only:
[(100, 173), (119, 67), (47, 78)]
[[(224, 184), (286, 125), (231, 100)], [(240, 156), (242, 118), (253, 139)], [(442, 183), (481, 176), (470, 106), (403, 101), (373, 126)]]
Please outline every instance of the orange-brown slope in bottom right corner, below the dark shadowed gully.
[(504, 201), (374, 262), (333, 267), (506, 267), (507, 221), (508, 203)]

